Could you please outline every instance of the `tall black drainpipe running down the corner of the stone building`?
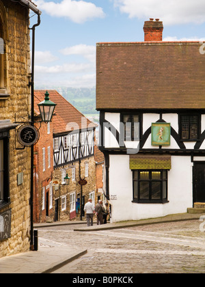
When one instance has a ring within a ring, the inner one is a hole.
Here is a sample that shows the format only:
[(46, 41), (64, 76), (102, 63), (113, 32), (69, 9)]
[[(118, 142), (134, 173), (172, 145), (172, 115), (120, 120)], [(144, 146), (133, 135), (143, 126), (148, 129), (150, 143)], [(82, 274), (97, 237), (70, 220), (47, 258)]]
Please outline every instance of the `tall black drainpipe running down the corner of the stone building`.
[[(32, 28), (32, 61), (31, 61), (31, 82), (29, 85), (31, 86), (31, 126), (34, 126), (34, 53), (35, 53), (35, 29), (40, 25), (40, 14), (38, 14), (38, 23), (33, 25)], [(31, 198), (30, 198), (30, 206), (31, 206), (31, 250), (34, 250), (33, 246), (33, 152), (34, 148), (31, 146)]]

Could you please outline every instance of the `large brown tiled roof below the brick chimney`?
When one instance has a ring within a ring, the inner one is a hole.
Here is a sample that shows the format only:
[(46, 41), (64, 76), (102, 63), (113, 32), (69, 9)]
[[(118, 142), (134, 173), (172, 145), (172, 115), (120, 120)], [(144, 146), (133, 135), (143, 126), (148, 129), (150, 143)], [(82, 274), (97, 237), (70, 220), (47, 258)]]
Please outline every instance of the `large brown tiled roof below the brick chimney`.
[(200, 42), (96, 45), (96, 108), (205, 109)]

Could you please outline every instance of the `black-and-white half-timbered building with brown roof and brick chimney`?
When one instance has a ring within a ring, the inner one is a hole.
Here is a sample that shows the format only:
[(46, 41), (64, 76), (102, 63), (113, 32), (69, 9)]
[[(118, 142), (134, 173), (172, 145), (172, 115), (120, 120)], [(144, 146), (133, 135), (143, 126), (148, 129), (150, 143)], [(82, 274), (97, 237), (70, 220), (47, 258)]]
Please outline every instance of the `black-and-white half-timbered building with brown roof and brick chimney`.
[(96, 109), (113, 221), (186, 213), (205, 202), (205, 52), (163, 42), (96, 44)]

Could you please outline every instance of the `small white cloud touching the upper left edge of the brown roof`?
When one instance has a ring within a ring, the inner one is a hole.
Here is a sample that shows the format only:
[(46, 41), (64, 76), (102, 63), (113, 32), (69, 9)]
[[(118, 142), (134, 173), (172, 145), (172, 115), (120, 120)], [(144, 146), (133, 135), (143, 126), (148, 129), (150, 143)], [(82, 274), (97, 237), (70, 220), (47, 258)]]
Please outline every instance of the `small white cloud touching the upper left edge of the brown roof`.
[(96, 46), (79, 44), (62, 49), (60, 52), (64, 55), (82, 55), (92, 63), (96, 60)]

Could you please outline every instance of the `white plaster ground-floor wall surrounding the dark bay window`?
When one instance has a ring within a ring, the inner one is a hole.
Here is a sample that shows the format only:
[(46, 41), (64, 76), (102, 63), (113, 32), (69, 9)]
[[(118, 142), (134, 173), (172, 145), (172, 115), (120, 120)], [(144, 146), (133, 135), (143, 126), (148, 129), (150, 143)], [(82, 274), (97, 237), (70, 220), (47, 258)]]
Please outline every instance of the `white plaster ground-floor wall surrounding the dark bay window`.
[(128, 155), (110, 155), (109, 193), (112, 205), (111, 221), (139, 220), (186, 213), (193, 204), (192, 166), (189, 156), (172, 156), (168, 172), (168, 200), (166, 204), (133, 203), (133, 175)]

